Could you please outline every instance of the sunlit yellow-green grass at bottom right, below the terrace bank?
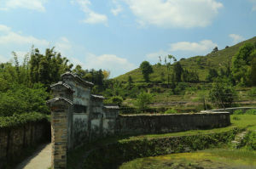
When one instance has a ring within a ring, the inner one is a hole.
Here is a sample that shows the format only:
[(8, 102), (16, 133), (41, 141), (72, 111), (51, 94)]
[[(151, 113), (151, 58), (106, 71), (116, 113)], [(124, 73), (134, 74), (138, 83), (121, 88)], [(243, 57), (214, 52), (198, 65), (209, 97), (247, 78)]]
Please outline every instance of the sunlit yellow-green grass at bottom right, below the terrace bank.
[(207, 149), (195, 153), (160, 155), (124, 163), (119, 169), (255, 168), (256, 152), (240, 149)]

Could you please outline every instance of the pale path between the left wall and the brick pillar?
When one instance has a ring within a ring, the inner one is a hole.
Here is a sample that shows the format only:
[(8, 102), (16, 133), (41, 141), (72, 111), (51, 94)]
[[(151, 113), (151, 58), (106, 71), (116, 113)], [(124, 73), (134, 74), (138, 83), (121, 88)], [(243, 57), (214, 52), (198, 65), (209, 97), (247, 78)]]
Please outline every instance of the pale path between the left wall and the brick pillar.
[(47, 169), (50, 166), (50, 154), (51, 144), (42, 144), (32, 156), (21, 162), (16, 169)]

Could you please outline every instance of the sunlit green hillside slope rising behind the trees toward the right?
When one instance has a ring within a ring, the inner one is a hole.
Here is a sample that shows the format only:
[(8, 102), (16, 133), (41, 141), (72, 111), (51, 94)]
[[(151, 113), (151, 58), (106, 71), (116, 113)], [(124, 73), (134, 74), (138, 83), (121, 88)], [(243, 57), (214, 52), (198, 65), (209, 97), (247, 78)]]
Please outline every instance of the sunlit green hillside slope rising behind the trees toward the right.
[[(232, 57), (245, 42), (256, 42), (256, 37), (240, 42), (229, 48), (218, 50), (215, 53), (207, 54), (206, 56), (195, 56), (189, 59), (180, 60), (180, 64), (187, 70), (195, 70), (199, 74), (200, 81), (205, 81), (209, 68), (219, 70), (225, 65), (230, 65)], [(154, 73), (150, 75), (151, 82), (160, 82), (161, 74), (164, 74), (166, 81), (166, 66), (153, 65)], [(131, 76), (133, 82), (143, 82), (143, 75), (139, 68), (131, 70), (124, 75), (117, 76), (114, 79), (122, 82), (127, 82), (128, 76)]]

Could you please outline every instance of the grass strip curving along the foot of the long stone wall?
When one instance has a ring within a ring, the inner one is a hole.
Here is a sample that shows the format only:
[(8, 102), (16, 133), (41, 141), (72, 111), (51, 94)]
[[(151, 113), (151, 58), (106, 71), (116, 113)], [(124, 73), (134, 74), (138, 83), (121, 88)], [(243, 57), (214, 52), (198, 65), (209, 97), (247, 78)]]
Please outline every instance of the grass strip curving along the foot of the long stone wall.
[(86, 152), (90, 151), (90, 149), (94, 149), (96, 147), (100, 147), (105, 144), (112, 144), (116, 142), (125, 143), (132, 140), (137, 140), (137, 139), (170, 138), (170, 137), (176, 137), (176, 136), (189, 136), (189, 135), (197, 135), (197, 134), (228, 132), (232, 130), (233, 127), (239, 127), (244, 130), (247, 129), (249, 131), (253, 131), (256, 129), (256, 115), (230, 115), (230, 121), (231, 121), (230, 127), (215, 128), (212, 130), (194, 130), (194, 131), (187, 131), (187, 132), (172, 132), (172, 133), (166, 133), (166, 134), (145, 134), (145, 135), (137, 135), (137, 136), (116, 136), (112, 138), (104, 138), (102, 140), (98, 140), (95, 143), (84, 144), (84, 146), (80, 147), (79, 149), (75, 149), (72, 152), (69, 152), (67, 155), (67, 168), (78, 168), (77, 166), (81, 161), (84, 160), (84, 154)]

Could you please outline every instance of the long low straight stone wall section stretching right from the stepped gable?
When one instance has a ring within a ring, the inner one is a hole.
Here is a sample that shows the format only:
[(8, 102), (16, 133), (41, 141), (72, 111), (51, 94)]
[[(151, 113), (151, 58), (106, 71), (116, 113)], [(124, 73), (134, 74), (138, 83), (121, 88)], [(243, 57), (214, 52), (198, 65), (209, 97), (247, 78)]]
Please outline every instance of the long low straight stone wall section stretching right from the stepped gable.
[(172, 115), (119, 115), (116, 130), (120, 134), (182, 132), (227, 127), (230, 113), (196, 113)]

